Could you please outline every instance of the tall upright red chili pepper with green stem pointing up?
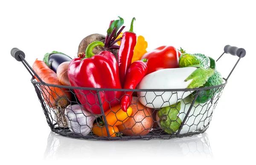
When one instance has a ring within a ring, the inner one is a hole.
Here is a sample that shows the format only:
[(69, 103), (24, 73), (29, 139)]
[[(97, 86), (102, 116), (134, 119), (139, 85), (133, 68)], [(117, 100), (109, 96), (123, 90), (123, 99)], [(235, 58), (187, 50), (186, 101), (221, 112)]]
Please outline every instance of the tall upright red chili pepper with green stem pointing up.
[(118, 50), (118, 65), (119, 65), (119, 77), (122, 87), (125, 83), (125, 74), (131, 65), (131, 60), (134, 54), (134, 47), (137, 43), (137, 36), (133, 32), (133, 23), (135, 18), (131, 21), (131, 28), (129, 31), (125, 31), (122, 35), (120, 48)]

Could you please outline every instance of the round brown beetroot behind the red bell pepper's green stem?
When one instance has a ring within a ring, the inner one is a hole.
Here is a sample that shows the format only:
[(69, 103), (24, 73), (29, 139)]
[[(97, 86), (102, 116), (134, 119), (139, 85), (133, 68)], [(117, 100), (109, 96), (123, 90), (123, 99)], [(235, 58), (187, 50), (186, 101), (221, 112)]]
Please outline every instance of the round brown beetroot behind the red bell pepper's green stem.
[[(85, 53), (86, 48), (88, 45), (90, 45), (90, 43), (92, 43), (93, 41), (102, 41), (103, 43), (105, 42), (106, 36), (102, 35), (102, 34), (90, 34), (87, 37), (85, 37), (83, 40), (81, 40), (79, 47), (78, 47), (78, 52), (79, 53)], [(116, 46), (118, 46), (118, 44), (114, 44)], [(116, 57), (116, 60), (118, 60), (118, 50), (117, 49), (108, 49), (105, 46), (100, 47), (97, 46), (96, 48), (93, 49), (93, 54), (99, 54), (99, 52), (101, 51), (110, 51), (111, 53), (114, 54), (114, 56)]]

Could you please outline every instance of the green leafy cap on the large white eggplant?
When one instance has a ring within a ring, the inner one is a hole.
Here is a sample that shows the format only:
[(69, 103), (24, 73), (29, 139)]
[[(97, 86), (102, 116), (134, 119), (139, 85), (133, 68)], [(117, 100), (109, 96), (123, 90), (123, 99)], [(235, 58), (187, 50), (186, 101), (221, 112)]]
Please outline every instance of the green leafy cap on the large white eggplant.
[(192, 82), (187, 86), (187, 88), (197, 88), (203, 86), (209, 77), (215, 73), (215, 70), (212, 68), (197, 68), (192, 74), (186, 78), (185, 81), (192, 80)]

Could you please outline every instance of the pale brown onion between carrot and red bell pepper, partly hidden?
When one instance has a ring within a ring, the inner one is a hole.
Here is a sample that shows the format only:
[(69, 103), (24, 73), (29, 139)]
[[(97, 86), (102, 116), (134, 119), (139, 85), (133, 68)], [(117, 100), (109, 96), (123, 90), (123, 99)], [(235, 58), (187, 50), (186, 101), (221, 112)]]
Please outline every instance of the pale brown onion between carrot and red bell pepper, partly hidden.
[(61, 63), (58, 66), (57, 72), (56, 72), (58, 80), (61, 82), (62, 85), (66, 85), (66, 86), (71, 86), (67, 76), (67, 69), (69, 64), (70, 64), (69, 61)]

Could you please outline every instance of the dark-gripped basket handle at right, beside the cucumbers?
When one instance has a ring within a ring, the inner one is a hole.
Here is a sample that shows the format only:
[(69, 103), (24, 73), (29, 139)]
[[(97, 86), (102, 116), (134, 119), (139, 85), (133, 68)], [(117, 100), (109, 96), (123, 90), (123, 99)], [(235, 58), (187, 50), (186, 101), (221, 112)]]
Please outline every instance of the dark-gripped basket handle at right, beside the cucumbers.
[[(228, 75), (228, 77), (224, 80), (228, 80), (228, 78), (230, 77), (230, 75), (232, 74), (232, 72), (234, 71), (234, 69), (236, 68), (236, 65), (239, 63), (240, 59), (243, 58), (246, 54), (246, 51), (244, 48), (238, 48), (236, 46), (230, 46), (230, 45), (226, 45), (224, 47), (224, 53), (223, 54), (231, 54), (233, 56), (237, 56), (239, 57), (239, 59), (237, 60), (236, 64), (234, 65), (233, 69), (230, 71), (230, 74)], [(220, 57), (218, 57), (218, 59), (216, 60), (216, 62), (223, 56), (223, 54), (221, 54)]]

